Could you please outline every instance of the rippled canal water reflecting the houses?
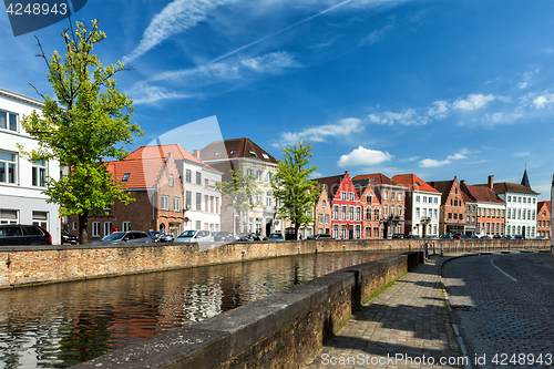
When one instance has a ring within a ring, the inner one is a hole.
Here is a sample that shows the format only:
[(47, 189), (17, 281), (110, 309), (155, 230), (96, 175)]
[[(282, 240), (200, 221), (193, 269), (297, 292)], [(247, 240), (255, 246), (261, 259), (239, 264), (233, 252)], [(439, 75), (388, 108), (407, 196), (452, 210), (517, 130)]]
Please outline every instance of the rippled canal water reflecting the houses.
[(0, 368), (68, 368), (394, 254), (315, 254), (2, 289)]

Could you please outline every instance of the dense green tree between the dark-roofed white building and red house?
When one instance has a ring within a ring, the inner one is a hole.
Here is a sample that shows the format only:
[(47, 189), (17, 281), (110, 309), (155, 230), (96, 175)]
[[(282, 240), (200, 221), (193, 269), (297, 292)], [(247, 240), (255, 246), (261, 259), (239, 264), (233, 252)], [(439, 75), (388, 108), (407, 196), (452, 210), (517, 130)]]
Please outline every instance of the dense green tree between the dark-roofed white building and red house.
[(281, 218), (288, 218), (295, 226), (296, 234), (300, 226), (314, 222), (310, 214), (319, 198), (320, 191), (310, 180), (317, 165), (308, 167), (311, 144), (304, 140), (293, 147), (283, 147), (283, 160), (278, 160), (277, 173), (271, 180), (274, 197), (280, 203), (277, 213)]

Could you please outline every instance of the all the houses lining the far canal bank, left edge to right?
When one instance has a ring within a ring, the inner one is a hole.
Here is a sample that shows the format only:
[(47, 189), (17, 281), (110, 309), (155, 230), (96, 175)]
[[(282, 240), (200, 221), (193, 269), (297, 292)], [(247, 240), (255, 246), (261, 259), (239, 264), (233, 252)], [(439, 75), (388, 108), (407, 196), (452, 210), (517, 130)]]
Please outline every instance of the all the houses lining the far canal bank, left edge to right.
[[(62, 229), (78, 232), (76, 217), (59, 217), (58, 206), (42, 194), (44, 178), (58, 180), (64, 175), (63, 167), (30, 163), (17, 147), (18, 143), (25, 150), (37, 146), (19, 120), (40, 109), (40, 101), (0, 89), (0, 224), (42, 225), (57, 244)], [(270, 186), (277, 161), (247, 137), (216, 141), (192, 153), (178, 144), (141, 146), (106, 166), (135, 201), (130, 205), (116, 202), (104, 209), (105, 215), (90, 219), (90, 240), (115, 228), (174, 236), (185, 229), (269, 235), (285, 232), (289, 225), (277, 215), (279, 204)], [(255, 176), (259, 193), (252, 199), (253, 209), (234, 212), (224, 206), (222, 194), (214, 188), (216, 183), (229, 181), (233, 171)], [(486, 184), (469, 185), (458, 177), (424, 182), (414, 174), (350, 177), (348, 172), (315, 181), (321, 194), (314, 223), (300, 229), (302, 237), (551, 236), (551, 204), (537, 201), (526, 171), (521, 184), (493, 183), (493, 176)]]

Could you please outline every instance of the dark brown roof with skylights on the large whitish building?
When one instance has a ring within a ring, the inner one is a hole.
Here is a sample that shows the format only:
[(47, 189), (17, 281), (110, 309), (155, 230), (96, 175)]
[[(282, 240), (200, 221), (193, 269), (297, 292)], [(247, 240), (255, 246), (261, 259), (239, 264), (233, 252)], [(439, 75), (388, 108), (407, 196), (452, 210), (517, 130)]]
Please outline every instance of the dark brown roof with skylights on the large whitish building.
[(201, 150), (201, 158), (205, 162), (226, 158), (252, 158), (277, 164), (275, 157), (248, 137), (214, 141)]

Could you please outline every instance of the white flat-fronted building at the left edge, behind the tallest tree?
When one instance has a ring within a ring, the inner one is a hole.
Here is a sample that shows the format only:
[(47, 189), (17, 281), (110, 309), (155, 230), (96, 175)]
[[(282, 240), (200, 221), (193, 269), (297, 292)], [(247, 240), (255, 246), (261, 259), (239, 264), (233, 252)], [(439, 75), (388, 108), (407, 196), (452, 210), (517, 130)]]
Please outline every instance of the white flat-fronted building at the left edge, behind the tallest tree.
[(0, 89), (0, 224), (35, 224), (60, 244), (59, 206), (48, 204), (44, 180), (60, 178), (57, 162), (31, 163), (20, 155), (17, 144), (25, 151), (38, 144), (22, 129), (21, 119), (33, 110), (41, 111), (38, 100)]

